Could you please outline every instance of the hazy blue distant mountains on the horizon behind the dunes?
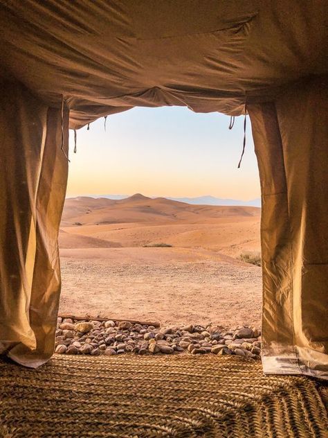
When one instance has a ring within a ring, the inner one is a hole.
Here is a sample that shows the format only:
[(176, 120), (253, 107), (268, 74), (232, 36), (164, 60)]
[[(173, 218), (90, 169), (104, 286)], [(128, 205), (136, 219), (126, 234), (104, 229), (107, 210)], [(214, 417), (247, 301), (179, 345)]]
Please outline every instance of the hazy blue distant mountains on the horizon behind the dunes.
[[(90, 195), (90, 196), (92, 198), (107, 198), (113, 200), (121, 200), (121, 199), (129, 198), (129, 195)], [(152, 196), (152, 198), (157, 198), (157, 197)], [(169, 196), (165, 196), (164, 198), (174, 201), (179, 201), (179, 202), (186, 202), (187, 204), (194, 204), (194, 205), (240, 205), (245, 207), (261, 207), (260, 198), (256, 198), (250, 201), (215, 198), (214, 196), (210, 196), (210, 195), (197, 196), (196, 198), (170, 198)]]

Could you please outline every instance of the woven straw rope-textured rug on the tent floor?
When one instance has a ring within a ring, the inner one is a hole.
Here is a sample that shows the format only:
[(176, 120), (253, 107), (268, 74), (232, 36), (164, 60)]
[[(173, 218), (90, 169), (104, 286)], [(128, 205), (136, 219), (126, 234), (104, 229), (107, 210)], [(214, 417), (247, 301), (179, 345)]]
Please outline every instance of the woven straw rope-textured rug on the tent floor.
[(313, 380), (264, 376), (237, 356), (55, 355), (36, 370), (0, 360), (6, 438), (324, 438), (327, 428)]

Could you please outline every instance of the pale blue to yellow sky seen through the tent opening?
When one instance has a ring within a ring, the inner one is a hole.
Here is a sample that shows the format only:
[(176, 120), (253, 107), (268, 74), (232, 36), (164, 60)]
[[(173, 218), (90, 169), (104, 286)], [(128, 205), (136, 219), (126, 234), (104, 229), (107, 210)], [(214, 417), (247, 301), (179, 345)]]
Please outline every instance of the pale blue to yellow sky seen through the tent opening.
[(70, 131), (67, 196), (132, 195), (250, 200), (259, 198), (259, 176), (250, 121), (242, 152), (244, 116), (195, 114), (185, 107), (137, 107)]

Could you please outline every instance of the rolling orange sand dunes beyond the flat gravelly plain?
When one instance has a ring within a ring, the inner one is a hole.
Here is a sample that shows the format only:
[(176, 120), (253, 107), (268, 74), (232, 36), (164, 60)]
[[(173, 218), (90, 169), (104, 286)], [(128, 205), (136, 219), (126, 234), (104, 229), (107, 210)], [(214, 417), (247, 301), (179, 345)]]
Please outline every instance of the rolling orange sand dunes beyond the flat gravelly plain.
[[(137, 194), (124, 200), (66, 200), (61, 247), (167, 243), (236, 255), (259, 251), (259, 209), (185, 204)], [(73, 236), (75, 236), (73, 238)], [(89, 240), (86, 240), (86, 237)]]

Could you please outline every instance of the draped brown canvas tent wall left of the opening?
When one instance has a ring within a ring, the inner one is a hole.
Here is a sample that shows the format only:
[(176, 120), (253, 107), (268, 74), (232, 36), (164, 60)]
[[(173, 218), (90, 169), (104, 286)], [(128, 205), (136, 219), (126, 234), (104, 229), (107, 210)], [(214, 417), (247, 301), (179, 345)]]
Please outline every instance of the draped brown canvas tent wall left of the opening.
[(1, 83), (0, 353), (36, 367), (53, 354), (57, 236), (66, 193), (69, 112)]

